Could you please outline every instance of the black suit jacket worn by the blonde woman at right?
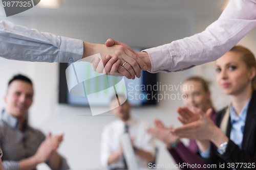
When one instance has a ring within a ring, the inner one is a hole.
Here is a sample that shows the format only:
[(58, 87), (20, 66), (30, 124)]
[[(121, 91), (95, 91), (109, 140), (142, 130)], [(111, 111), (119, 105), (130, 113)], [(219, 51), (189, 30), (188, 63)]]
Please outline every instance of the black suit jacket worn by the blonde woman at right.
[[(223, 119), (226, 111), (223, 109), (216, 116), (217, 126), (220, 127), (221, 120)], [(229, 138), (231, 131), (230, 117), (227, 125), (227, 137)], [(238, 147), (232, 140), (228, 141), (226, 152), (223, 155), (220, 155), (217, 151), (217, 147), (212, 144), (210, 158), (205, 159), (202, 158), (202, 161), (205, 164), (216, 164), (217, 168), (209, 168), (209, 169), (232, 169), (228, 168), (228, 163), (234, 163), (234, 168), (237, 170), (242, 169), (256, 169), (256, 91), (252, 92), (251, 101), (249, 103), (247, 116), (245, 120), (244, 127), (244, 137), (242, 143), (242, 149)], [(220, 168), (219, 165), (225, 164), (225, 168)], [(239, 166), (237, 166), (240, 163)], [(243, 163), (243, 164), (241, 164)], [(255, 167), (253, 166), (253, 164)], [(248, 165), (251, 165), (248, 168)], [(242, 167), (241, 167), (242, 165)], [(246, 167), (247, 165), (247, 167)]]

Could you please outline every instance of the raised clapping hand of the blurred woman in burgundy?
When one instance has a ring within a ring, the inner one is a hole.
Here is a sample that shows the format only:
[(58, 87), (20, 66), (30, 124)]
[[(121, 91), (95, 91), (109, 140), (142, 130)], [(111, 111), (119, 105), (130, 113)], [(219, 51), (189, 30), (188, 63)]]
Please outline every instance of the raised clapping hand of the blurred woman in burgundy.
[(173, 127), (170, 126), (169, 128), (165, 127), (164, 124), (159, 119), (155, 119), (154, 121), (155, 127), (147, 129), (147, 132), (150, 133), (153, 137), (162, 140), (167, 148), (170, 147), (171, 142), (177, 141), (177, 137), (170, 134)]

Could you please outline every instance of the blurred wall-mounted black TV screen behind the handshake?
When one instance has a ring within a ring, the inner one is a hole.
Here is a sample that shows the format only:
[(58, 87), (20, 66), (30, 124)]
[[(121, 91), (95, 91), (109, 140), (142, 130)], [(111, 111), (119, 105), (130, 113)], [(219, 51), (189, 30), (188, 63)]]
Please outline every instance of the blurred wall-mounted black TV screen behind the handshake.
[[(141, 48), (134, 48), (134, 50), (141, 51)], [(68, 67), (71, 69), (67, 69)], [(75, 69), (76, 77), (91, 78), (90, 81), (82, 83), (84, 89), (86, 89), (84, 90), (84, 96), (73, 96), (69, 92), (67, 77), (68, 81), (71, 81), (69, 72), (70, 70), (73, 71), (73, 68)], [(90, 106), (109, 106), (110, 99), (117, 92), (118, 94), (125, 94), (129, 103), (135, 107), (157, 104), (156, 98), (153, 97), (157, 93), (153, 88), (157, 84), (157, 74), (142, 70), (141, 78), (136, 78), (135, 80), (126, 79), (125, 77), (106, 76), (95, 72), (88, 62), (79, 62), (75, 63), (75, 65), (60, 63), (59, 74), (59, 103), (89, 106), (90, 102)], [(121, 79), (122, 81), (120, 81)], [(110, 84), (115, 84), (115, 91), (108, 88)]]

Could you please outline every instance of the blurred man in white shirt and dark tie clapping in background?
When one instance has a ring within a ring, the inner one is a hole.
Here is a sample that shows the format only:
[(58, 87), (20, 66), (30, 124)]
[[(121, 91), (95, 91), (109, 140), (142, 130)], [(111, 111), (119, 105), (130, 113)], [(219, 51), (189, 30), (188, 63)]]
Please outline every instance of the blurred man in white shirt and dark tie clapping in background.
[(136, 158), (140, 167), (148, 167), (148, 163), (154, 161), (155, 143), (150, 134), (146, 132), (149, 127), (146, 122), (135, 119), (131, 116), (132, 106), (125, 101), (122, 95), (113, 96), (110, 102), (111, 112), (117, 119), (106, 125), (101, 137), (101, 164), (109, 169), (127, 169), (127, 164), (123, 157), (123, 150), (120, 137), (124, 133), (129, 133)]

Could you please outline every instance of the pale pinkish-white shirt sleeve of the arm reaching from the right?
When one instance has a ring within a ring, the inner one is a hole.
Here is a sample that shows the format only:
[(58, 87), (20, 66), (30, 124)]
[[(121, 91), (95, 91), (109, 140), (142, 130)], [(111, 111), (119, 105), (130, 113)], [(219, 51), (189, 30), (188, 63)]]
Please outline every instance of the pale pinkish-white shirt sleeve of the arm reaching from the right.
[(255, 19), (255, 0), (231, 0), (202, 33), (144, 50), (150, 56), (150, 72), (181, 71), (217, 60), (256, 27)]

